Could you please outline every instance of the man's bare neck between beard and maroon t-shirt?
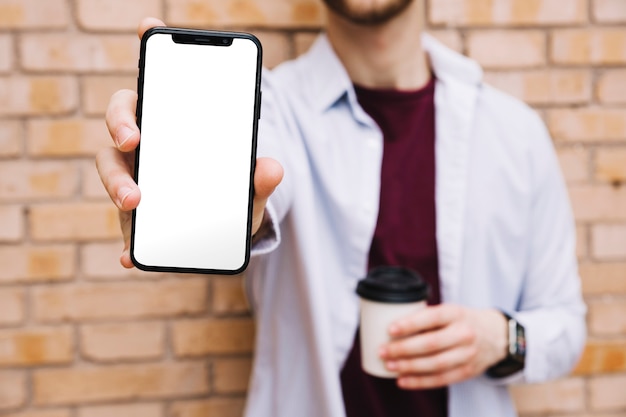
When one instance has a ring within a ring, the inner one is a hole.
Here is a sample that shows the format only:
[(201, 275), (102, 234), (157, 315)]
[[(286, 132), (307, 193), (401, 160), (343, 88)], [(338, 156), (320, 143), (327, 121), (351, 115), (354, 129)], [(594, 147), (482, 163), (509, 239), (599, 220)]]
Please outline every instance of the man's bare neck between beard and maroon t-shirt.
[(421, 4), (414, 1), (400, 15), (376, 26), (357, 25), (328, 11), (328, 39), (353, 83), (416, 90), (428, 82)]

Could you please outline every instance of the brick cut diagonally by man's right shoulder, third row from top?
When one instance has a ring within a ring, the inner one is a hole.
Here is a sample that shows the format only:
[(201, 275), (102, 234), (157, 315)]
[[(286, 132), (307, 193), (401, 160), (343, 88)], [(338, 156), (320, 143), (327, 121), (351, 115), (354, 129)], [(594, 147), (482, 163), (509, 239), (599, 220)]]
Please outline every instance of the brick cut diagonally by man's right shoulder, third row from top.
[(591, 100), (591, 72), (587, 70), (487, 72), (485, 80), (532, 105), (581, 104)]

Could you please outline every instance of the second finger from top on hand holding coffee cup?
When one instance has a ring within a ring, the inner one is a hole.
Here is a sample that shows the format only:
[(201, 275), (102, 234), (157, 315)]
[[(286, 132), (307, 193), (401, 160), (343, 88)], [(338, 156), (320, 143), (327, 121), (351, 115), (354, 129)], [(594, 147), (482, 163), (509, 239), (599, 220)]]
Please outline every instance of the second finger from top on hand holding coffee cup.
[(476, 340), (476, 332), (469, 326), (453, 323), (425, 333), (394, 340), (380, 349), (384, 359), (402, 359), (432, 355), (455, 346), (467, 346)]

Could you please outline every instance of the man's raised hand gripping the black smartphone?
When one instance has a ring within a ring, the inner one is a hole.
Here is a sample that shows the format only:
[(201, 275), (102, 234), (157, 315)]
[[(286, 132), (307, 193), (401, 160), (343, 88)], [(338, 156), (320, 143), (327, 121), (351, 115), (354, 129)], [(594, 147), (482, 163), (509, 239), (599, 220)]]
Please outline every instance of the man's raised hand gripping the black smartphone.
[[(165, 26), (165, 24), (154, 18), (144, 19), (139, 26), (139, 37), (141, 38), (148, 29), (158, 26)], [(134, 91), (120, 90), (111, 97), (106, 113), (106, 123), (115, 146), (100, 151), (96, 157), (102, 183), (111, 200), (120, 210), (120, 225), (124, 237), (124, 250), (120, 263), (126, 268), (133, 267), (130, 257), (132, 210), (137, 208), (141, 200), (141, 192), (133, 179), (135, 150), (140, 142), (136, 106), (137, 93)], [(172, 146), (176, 146), (176, 138), (172, 138)], [(277, 161), (270, 158), (259, 158), (256, 161), (252, 234), (259, 230), (267, 199), (282, 180), (282, 176), (283, 169)], [(181, 218), (185, 216), (185, 207), (182, 202), (180, 216)]]

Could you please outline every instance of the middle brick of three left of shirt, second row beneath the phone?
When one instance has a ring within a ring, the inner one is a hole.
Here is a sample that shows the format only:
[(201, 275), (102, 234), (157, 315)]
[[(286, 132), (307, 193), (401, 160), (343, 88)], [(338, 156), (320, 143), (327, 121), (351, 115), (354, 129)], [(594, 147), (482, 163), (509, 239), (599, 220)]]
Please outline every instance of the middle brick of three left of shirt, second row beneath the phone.
[(96, 362), (155, 359), (163, 356), (165, 329), (156, 322), (84, 325), (80, 341), (83, 357)]

